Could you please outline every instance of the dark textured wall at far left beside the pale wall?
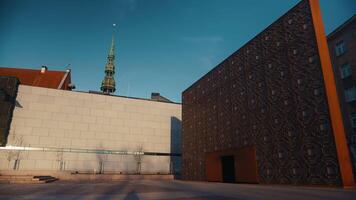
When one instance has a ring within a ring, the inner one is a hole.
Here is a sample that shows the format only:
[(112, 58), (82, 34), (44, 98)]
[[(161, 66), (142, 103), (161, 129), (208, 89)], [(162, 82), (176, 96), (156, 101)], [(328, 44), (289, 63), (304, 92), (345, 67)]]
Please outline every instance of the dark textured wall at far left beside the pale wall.
[(15, 77), (0, 77), (0, 146), (5, 146), (19, 81)]

